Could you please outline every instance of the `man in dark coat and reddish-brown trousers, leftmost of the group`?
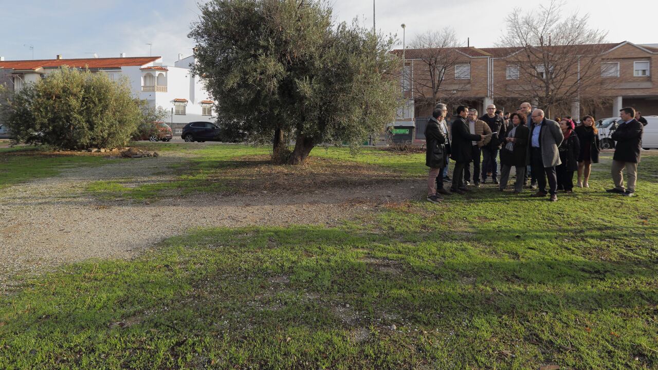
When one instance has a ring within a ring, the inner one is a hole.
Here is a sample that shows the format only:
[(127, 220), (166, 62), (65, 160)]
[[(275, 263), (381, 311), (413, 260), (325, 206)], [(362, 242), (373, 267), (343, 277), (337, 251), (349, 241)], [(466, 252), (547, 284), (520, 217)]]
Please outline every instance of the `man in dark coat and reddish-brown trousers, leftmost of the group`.
[(432, 118), (427, 122), (425, 128), (425, 165), (430, 167), (430, 173), (427, 178), (427, 200), (432, 203), (438, 203), (443, 198), (436, 193), (436, 181), (438, 177), (442, 178), (441, 184), (443, 185), (443, 176), (441, 174), (443, 167), (445, 167), (445, 142), (447, 141), (446, 135), (440, 130), (439, 125), (443, 120), (443, 110), (434, 109)]

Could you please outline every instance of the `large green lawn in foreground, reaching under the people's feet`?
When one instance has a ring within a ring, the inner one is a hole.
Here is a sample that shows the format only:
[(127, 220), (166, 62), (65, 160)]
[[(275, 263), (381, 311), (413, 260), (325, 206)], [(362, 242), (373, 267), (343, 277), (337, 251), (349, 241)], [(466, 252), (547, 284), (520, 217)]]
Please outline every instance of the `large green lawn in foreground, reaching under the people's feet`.
[(658, 156), (636, 198), (603, 192), (602, 162), (557, 203), (419, 196), (335, 228), (201, 229), (26, 278), (0, 298), (0, 368), (655, 369)]

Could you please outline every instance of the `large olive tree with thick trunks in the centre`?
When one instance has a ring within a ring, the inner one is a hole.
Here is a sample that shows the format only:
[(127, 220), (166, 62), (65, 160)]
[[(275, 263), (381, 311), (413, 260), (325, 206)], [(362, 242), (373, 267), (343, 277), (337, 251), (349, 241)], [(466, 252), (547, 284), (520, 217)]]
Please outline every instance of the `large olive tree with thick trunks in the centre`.
[(272, 142), (279, 163), (304, 163), (316, 145), (356, 146), (395, 120), (401, 61), (392, 38), (336, 24), (319, 1), (213, 0), (190, 37), (218, 123)]

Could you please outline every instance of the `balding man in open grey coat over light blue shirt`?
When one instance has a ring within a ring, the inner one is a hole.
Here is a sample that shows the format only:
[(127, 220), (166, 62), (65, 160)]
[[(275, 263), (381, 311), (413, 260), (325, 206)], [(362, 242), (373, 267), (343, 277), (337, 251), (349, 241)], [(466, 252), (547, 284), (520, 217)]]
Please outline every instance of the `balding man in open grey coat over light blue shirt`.
[[(528, 138), (528, 155), (526, 163), (532, 166), (537, 178), (539, 191), (533, 197), (545, 197), (551, 194), (551, 201), (557, 201), (557, 175), (555, 166), (560, 165), (558, 147), (565, 140), (560, 125), (554, 120), (544, 117), (544, 111), (535, 109), (530, 116), (532, 125)], [(549, 192), (546, 192), (546, 178), (548, 178)]]

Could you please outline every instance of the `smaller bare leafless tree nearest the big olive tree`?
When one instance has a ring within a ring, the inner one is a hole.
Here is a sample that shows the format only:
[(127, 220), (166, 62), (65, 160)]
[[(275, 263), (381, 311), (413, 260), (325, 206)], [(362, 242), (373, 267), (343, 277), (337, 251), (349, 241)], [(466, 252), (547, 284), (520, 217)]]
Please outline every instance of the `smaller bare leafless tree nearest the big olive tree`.
[(452, 78), (451, 71), (465, 59), (465, 55), (457, 51), (460, 46), (457, 34), (451, 28), (430, 30), (411, 41), (411, 50), (407, 53), (413, 51), (411, 56), (417, 59), (411, 78), (411, 90), (417, 106), (434, 107), (438, 101), (451, 103), (457, 99), (457, 91), (465, 83)]

